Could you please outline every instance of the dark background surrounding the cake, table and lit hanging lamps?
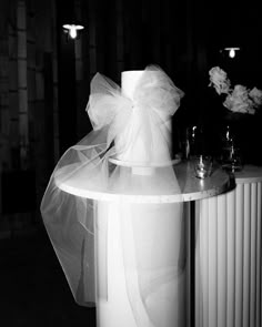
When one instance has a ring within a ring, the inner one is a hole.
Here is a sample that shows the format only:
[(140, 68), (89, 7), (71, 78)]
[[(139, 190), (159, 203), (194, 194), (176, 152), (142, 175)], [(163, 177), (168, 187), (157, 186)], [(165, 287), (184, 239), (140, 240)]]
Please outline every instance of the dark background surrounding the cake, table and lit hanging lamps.
[[(84, 25), (78, 40), (62, 30), (71, 21)], [(175, 151), (196, 124), (216, 153), (225, 112), (208, 86), (209, 70), (220, 65), (233, 84), (262, 89), (261, 44), (255, 1), (0, 1), (2, 326), (94, 326), (94, 310), (73, 302), (39, 212), (59, 157), (91, 131), (93, 75), (120, 84), (121, 71), (160, 65), (185, 93), (173, 117)], [(230, 59), (224, 47), (241, 50)], [(240, 126), (259, 153), (261, 113)]]

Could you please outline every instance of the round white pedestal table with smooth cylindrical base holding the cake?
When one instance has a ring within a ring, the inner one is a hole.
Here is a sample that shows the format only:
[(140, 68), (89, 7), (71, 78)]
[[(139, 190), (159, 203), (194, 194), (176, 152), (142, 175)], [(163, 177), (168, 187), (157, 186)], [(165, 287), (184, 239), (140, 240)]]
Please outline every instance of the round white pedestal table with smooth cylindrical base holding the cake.
[[(98, 192), (89, 190), (88, 183), (75, 176), (59, 183), (63, 192), (92, 200), (97, 211), (94, 256), (99, 327), (182, 327), (194, 323), (192, 251), (195, 241), (191, 239), (194, 237), (194, 203), (226, 192), (230, 178), (216, 168), (210, 177), (199, 180), (189, 162), (179, 163), (173, 168), (182, 194), (140, 195), (139, 190), (137, 194)], [(149, 177), (153, 178), (144, 176)], [(181, 217), (175, 218), (172, 214), (181, 205), (184, 207), (182, 223)], [(161, 208), (164, 208), (164, 215), (161, 215)], [(135, 231), (133, 221), (140, 226)], [(159, 247), (152, 243), (157, 239), (161, 239)], [(135, 249), (137, 242), (142, 242), (143, 247)], [(153, 262), (152, 246), (159, 252), (159, 258), (162, 252), (162, 262)], [(167, 267), (165, 262), (173, 258), (178, 265)], [(149, 266), (150, 272), (147, 270)], [(155, 282), (158, 287), (152, 292), (154, 280), (161, 278), (164, 283)]]

